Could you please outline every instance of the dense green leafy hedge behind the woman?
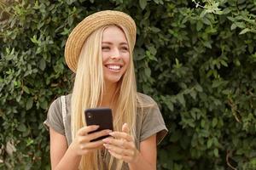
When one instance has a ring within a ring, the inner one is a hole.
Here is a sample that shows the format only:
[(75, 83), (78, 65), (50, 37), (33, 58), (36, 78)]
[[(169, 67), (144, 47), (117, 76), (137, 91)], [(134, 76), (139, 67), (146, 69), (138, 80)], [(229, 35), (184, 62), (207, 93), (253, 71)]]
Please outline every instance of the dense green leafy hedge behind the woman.
[(253, 0), (23, 0), (0, 3), (0, 168), (49, 169), (49, 104), (70, 93), (68, 34), (97, 10), (137, 22), (138, 90), (170, 133), (158, 169), (256, 169)]

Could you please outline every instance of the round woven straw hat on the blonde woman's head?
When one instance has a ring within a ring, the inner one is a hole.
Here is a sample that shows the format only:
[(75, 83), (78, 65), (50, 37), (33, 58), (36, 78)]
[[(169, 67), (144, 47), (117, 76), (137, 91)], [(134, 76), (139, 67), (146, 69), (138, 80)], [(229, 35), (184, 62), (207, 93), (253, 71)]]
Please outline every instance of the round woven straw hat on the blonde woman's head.
[(93, 31), (106, 25), (124, 26), (131, 38), (131, 49), (136, 41), (136, 25), (131, 16), (119, 11), (104, 10), (95, 14), (90, 14), (76, 26), (67, 38), (65, 47), (65, 59), (67, 66), (76, 72), (79, 55), (84, 42)]

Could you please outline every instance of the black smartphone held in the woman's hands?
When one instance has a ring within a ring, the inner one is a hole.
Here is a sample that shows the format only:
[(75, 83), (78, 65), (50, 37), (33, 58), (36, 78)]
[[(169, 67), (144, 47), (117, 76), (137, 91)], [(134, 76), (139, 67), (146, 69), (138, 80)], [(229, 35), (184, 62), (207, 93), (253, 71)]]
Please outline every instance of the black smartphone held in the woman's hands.
[[(109, 129), (113, 131), (113, 118), (112, 111), (110, 108), (91, 108), (84, 111), (85, 122), (87, 126), (99, 125), (100, 127), (96, 131), (90, 132), (95, 133), (104, 129)], [(101, 140), (107, 138), (109, 135), (102, 136), (97, 139), (91, 140), (91, 142), (96, 140)]]

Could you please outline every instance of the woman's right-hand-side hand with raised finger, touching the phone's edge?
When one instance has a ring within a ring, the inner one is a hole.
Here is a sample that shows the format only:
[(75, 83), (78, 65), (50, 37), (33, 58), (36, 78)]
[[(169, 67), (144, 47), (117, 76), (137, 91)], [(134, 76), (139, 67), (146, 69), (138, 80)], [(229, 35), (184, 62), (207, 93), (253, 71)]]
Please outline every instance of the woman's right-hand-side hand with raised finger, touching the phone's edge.
[(105, 148), (108, 152), (127, 163), (137, 161), (139, 151), (136, 148), (134, 139), (129, 134), (129, 127), (125, 123), (122, 127), (122, 132), (109, 133), (113, 138), (103, 139)]

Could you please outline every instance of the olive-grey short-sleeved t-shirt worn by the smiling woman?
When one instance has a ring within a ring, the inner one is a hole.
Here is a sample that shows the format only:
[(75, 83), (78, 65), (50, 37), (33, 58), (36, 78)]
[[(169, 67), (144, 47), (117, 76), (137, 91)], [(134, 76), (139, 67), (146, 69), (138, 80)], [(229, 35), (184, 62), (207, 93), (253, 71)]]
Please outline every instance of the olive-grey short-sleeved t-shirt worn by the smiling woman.
[[(137, 123), (136, 123), (136, 141), (135, 144), (139, 150), (140, 142), (156, 133), (157, 144), (166, 136), (167, 128), (164, 119), (160, 113), (159, 107), (154, 102), (154, 99), (148, 95), (138, 93), (139, 99), (143, 104), (153, 104), (150, 106), (144, 106), (137, 108)], [(61, 97), (55, 99), (55, 101), (49, 106), (47, 119), (44, 125), (53, 128), (57, 133), (61, 133), (66, 136), (67, 144), (72, 143), (71, 134), (71, 94), (65, 96), (66, 101), (66, 124), (64, 127), (61, 108)], [(65, 132), (66, 131), (66, 132)]]

